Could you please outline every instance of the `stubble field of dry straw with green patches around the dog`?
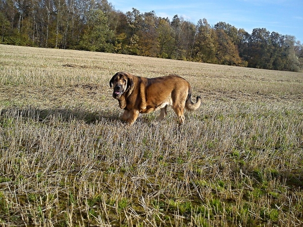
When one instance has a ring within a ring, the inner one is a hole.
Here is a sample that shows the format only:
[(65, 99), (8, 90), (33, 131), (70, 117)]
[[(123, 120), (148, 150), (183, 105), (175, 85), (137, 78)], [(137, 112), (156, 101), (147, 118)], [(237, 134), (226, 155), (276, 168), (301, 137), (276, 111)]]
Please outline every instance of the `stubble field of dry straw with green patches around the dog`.
[[(118, 71), (203, 104), (128, 126)], [(1, 226), (302, 226), (303, 73), (0, 45)]]

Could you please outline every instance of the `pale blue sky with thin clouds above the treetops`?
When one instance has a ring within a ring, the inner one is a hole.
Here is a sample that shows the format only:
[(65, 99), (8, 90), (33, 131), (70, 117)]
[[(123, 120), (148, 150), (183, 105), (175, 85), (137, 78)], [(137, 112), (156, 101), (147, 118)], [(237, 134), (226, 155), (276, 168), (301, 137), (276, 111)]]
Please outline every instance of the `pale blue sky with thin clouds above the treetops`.
[(140, 13), (155, 11), (158, 17), (174, 15), (194, 24), (207, 19), (213, 26), (225, 22), (251, 34), (254, 28), (266, 28), (282, 35), (294, 35), (303, 43), (302, 0), (108, 0), (115, 10), (126, 13), (135, 8)]

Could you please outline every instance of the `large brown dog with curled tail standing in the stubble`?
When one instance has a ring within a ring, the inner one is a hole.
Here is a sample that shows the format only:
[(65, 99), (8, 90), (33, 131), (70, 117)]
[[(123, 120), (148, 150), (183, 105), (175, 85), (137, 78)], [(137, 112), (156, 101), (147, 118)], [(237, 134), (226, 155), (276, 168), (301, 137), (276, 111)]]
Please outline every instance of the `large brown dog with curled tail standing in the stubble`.
[(133, 124), (139, 113), (161, 110), (158, 120), (167, 114), (167, 106), (172, 106), (181, 124), (184, 109), (194, 111), (201, 105), (201, 98), (191, 102), (190, 84), (180, 76), (169, 75), (156, 78), (134, 76), (127, 72), (117, 72), (110, 80), (114, 87), (113, 97), (124, 109), (122, 119)]

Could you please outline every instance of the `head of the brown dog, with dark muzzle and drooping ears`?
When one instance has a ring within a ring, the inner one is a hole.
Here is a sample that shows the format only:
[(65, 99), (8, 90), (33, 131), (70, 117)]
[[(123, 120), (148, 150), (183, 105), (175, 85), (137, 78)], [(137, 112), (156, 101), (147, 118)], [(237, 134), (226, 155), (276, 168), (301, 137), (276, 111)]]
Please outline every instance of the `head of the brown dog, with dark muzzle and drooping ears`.
[(113, 97), (119, 99), (125, 92), (133, 87), (133, 81), (128, 73), (117, 72), (110, 80), (110, 86), (114, 87)]

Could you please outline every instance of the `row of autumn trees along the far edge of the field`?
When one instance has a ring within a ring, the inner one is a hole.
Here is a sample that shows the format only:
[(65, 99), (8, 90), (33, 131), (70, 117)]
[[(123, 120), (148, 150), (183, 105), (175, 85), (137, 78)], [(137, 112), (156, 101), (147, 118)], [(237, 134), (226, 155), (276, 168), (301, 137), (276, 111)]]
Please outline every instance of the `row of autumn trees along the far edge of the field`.
[(123, 13), (107, 0), (1, 0), (1, 43), (301, 71), (303, 46), (292, 35), (244, 29), (207, 19), (137, 9)]

